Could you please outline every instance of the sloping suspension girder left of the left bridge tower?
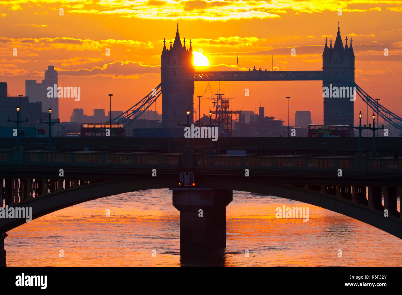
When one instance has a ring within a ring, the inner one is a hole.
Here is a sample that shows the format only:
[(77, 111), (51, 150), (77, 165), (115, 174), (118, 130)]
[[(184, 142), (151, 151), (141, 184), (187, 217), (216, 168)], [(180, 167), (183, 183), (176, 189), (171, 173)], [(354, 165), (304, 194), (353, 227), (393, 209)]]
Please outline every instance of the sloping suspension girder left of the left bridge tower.
[[(126, 123), (128, 120), (135, 120), (142, 113), (144, 113), (162, 94), (162, 83), (156, 86), (150, 93), (148, 93), (143, 99), (137, 102), (135, 105), (127, 109), (121, 115), (112, 119), (112, 123)], [(110, 121), (110, 120), (109, 120)], [(107, 121), (107, 122), (109, 122)]]

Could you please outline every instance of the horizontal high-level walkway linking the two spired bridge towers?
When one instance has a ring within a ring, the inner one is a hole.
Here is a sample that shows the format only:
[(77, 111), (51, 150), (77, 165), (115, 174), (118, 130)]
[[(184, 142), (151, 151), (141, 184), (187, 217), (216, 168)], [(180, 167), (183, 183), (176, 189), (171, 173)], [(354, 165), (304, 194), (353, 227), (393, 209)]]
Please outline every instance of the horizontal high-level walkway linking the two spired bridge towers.
[(194, 81), (297, 81), (322, 80), (322, 70), (319, 71), (222, 71), (194, 72), (189, 74), (189, 80)]

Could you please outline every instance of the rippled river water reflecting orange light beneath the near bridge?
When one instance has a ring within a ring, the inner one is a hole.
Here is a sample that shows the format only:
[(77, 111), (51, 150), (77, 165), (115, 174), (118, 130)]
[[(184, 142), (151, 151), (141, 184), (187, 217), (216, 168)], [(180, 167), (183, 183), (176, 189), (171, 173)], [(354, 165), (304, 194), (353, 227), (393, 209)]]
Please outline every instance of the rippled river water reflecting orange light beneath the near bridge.
[[(276, 219), (282, 205), (309, 207), (309, 221)], [(7, 266), (402, 266), (402, 240), (393, 235), (320, 207), (238, 191), (226, 207), (226, 250), (213, 262), (184, 264), (179, 216), (168, 189), (78, 204), (9, 231)]]

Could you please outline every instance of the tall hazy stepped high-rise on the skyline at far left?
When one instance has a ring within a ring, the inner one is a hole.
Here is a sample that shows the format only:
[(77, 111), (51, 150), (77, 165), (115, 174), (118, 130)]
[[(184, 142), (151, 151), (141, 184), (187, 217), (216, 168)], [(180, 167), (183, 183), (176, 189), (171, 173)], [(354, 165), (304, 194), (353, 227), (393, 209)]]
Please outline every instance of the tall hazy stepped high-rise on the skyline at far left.
[[(56, 86), (55, 86), (56, 85)], [(47, 97), (47, 87), (56, 87), (57, 89), (57, 71), (54, 66), (48, 66), (45, 71), (45, 79), (41, 83), (37, 83), (36, 80), (25, 80), (25, 96), (29, 97), (30, 102), (42, 103), (42, 112), (47, 113), (49, 107), (51, 107), (52, 119), (59, 118), (59, 98)]]

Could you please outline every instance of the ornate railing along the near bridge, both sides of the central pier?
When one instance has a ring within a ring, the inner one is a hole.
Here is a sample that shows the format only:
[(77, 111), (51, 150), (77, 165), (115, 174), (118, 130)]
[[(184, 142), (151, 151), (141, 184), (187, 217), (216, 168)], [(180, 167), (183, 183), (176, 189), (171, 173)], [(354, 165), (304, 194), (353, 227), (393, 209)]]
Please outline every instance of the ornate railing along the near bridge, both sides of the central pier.
[[(25, 151), (16, 159), (12, 151), (0, 152), (1, 166), (77, 166), (77, 167), (152, 167), (180, 169), (179, 153), (105, 153)], [(194, 155), (195, 169), (302, 170), (302, 171), (387, 171), (402, 175), (402, 159), (318, 156), (227, 156)]]

